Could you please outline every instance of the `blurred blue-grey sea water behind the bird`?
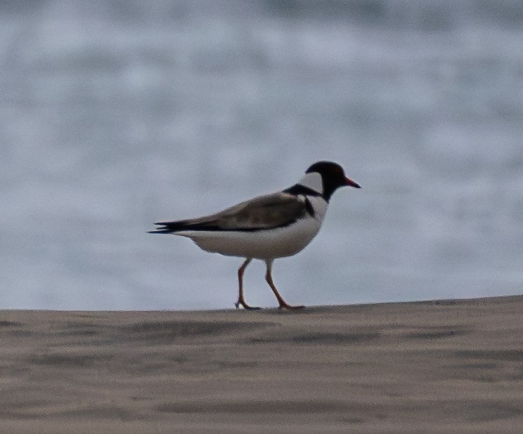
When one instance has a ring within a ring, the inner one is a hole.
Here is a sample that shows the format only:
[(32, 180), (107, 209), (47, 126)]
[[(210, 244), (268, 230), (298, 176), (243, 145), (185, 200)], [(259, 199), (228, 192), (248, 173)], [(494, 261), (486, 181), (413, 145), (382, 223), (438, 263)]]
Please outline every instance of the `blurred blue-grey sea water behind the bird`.
[(517, 0), (2, 1), (0, 308), (231, 308), (240, 258), (146, 230), (320, 159), (363, 188), (289, 303), (521, 294), (522, 47)]

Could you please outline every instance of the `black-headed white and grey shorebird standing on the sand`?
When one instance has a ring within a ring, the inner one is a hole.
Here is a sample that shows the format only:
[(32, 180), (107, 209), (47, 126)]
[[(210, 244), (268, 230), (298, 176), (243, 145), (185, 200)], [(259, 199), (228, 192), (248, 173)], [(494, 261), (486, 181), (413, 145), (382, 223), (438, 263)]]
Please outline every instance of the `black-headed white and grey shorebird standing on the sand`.
[(301, 309), (280, 295), (272, 278), (275, 259), (302, 251), (321, 228), (330, 197), (338, 188), (361, 186), (345, 176), (340, 164), (321, 161), (312, 164), (290, 188), (240, 202), (208, 216), (154, 223), (148, 233), (172, 234), (193, 240), (200, 249), (225, 256), (245, 258), (238, 269), (238, 301), (247, 310), (259, 307), (245, 302), (243, 274), (253, 259), (266, 264), (265, 280), (280, 309)]

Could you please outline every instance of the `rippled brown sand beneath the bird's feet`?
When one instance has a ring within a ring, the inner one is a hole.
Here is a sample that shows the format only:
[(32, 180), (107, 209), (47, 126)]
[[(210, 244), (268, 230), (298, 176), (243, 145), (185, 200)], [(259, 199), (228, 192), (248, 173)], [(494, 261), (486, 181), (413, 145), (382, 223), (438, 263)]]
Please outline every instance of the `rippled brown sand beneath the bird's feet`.
[(521, 433), (523, 296), (0, 311), (0, 433)]

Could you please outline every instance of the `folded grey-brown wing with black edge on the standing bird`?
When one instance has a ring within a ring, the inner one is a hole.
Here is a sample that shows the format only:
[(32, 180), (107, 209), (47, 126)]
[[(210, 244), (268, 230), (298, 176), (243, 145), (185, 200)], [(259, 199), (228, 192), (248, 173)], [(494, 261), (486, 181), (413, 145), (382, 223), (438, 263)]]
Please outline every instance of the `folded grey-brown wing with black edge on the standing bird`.
[(310, 213), (311, 205), (305, 197), (288, 193), (273, 193), (255, 197), (218, 213), (200, 218), (155, 223), (161, 225), (153, 233), (181, 230), (239, 230), (251, 231), (281, 228)]

